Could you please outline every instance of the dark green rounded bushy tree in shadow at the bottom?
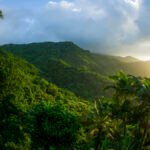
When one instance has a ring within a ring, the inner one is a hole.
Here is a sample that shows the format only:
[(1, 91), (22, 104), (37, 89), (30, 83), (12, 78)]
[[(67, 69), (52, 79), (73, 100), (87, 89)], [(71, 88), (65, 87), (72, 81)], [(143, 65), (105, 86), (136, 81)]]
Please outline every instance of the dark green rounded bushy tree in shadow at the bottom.
[(77, 116), (63, 104), (41, 102), (31, 112), (29, 128), (33, 147), (70, 149), (76, 142), (79, 123)]

